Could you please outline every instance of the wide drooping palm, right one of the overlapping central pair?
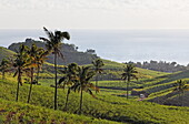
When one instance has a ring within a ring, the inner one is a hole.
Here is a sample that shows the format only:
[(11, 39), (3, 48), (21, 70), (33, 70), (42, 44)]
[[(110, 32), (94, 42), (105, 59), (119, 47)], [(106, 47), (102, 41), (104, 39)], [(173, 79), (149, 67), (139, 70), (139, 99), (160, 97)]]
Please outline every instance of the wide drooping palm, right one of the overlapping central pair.
[(74, 92), (80, 92), (80, 104), (79, 104), (79, 114), (81, 114), (82, 111), (82, 99), (83, 99), (83, 91), (89, 93), (90, 95), (94, 96), (92, 93), (92, 90), (99, 91), (98, 87), (96, 87), (90, 80), (94, 76), (94, 71), (91, 70), (91, 66), (79, 66), (78, 68), (78, 80), (74, 83), (73, 86), (71, 86), (71, 90)]

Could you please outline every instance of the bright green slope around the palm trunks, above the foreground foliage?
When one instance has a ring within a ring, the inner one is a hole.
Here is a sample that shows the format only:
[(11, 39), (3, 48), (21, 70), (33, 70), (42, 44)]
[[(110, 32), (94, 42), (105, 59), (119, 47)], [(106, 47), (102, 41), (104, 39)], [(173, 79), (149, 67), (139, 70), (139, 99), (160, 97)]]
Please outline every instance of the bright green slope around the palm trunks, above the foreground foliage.
[[(2, 81), (2, 80), (0, 81), (0, 97), (2, 100), (12, 101), (10, 103), (12, 103), (13, 106), (14, 106), (13, 101), (16, 96), (16, 87), (17, 87), (17, 82), (12, 78), (9, 78), (9, 80), (6, 80), (6, 81)], [(27, 101), (29, 85), (24, 84), (23, 86), (21, 86), (20, 90), (21, 91), (20, 91), (19, 101), (22, 103), (18, 103), (18, 104), (23, 104)], [(126, 97), (119, 96), (119, 94), (122, 94), (122, 93), (123, 91), (117, 91), (117, 90), (112, 91), (112, 90), (102, 89), (101, 92), (96, 95), (96, 97), (91, 97), (89, 94), (84, 94), (83, 95), (83, 111), (82, 111), (83, 115), (115, 121), (115, 122), (132, 123), (132, 124), (149, 124), (149, 123), (182, 124), (182, 123), (189, 122), (189, 108), (188, 107), (173, 107), (173, 106), (158, 105), (155, 103), (137, 101), (136, 99), (131, 99), (127, 101)], [(32, 97), (31, 97), (31, 104), (37, 106), (36, 107), (37, 110), (40, 106), (42, 106), (41, 110), (52, 108), (53, 106), (52, 97), (53, 97), (52, 87), (34, 85)], [(64, 97), (66, 97), (66, 92), (63, 92), (63, 90), (59, 90), (58, 101), (59, 101), (60, 111), (62, 111), (63, 108)], [(3, 103), (3, 104), (7, 104), (7, 103)], [(69, 99), (69, 107), (68, 107), (69, 113), (76, 113), (77, 110), (79, 108), (78, 104), (79, 104), (79, 94), (71, 92), (70, 99)], [(27, 104), (23, 104), (22, 107), (27, 108), (28, 106)], [(31, 110), (32, 107), (33, 106), (31, 106)], [(2, 110), (7, 110), (7, 108), (2, 107)], [(57, 120), (53, 116), (57, 115), (57, 113), (59, 112), (53, 113), (52, 110), (47, 110), (47, 111), (52, 113), (52, 115), (49, 118), (47, 118), (47, 121)], [(37, 120), (40, 116), (39, 121), (42, 118), (42, 115), (40, 114), (38, 115), (31, 114), (31, 115), (37, 116)], [(48, 114), (44, 114), (44, 116), (47, 115)], [(17, 116), (20, 116), (20, 114), (18, 114)], [(31, 120), (32, 117), (29, 116), (26, 118)], [(84, 117), (81, 117), (81, 123), (83, 121), (82, 118), (87, 120)], [(2, 120), (6, 120), (6, 118), (2, 117)], [(60, 121), (63, 121), (63, 120), (60, 120)], [(90, 122), (91, 118), (88, 118), (88, 121)]]

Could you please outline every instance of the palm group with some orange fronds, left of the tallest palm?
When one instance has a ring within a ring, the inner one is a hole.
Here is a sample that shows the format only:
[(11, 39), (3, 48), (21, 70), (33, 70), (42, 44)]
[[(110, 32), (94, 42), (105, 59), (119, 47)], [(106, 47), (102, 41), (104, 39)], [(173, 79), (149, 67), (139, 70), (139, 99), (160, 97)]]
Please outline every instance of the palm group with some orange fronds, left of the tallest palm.
[[(32, 84), (38, 81), (39, 70), (42, 66), (46, 56), (48, 55), (48, 51), (38, 48), (36, 44), (32, 44), (31, 48), (27, 45), (20, 45), (14, 59), (12, 60), (12, 66), (14, 69), (13, 76), (17, 76), (18, 87), (17, 87), (17, 96), (16, 101), (18, 101), (19, 89), (22, 85), (22, 75), (23, 73), (30, 78), (30, 90), (28, 94), (28, 103), (30, 102)], [(37, 72), (36, 81), (34, 81), (34, 72)]]

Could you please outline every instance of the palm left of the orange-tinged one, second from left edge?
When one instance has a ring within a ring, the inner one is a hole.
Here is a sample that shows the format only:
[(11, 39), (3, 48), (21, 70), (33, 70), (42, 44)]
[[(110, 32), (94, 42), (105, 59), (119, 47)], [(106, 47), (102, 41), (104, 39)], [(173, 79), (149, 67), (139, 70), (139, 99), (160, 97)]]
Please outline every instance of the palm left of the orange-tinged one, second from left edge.
[(26, 45), (20, 45), (19, 50), (17, 51), (17, 54), (14, 55), (16, 59), (13, 60), (13, 68), (16, 69), (16, 72), (13, 76), (17, 76), (18, 80), (18, 86), (17, 86), (17, 95), (16, 101), (18, 102), (19, 96), (19, 90), (20, 85), (22, 85), (22, 74), (27, 71), (27, 68), (30, 63), (30, 58), (28, 56)]

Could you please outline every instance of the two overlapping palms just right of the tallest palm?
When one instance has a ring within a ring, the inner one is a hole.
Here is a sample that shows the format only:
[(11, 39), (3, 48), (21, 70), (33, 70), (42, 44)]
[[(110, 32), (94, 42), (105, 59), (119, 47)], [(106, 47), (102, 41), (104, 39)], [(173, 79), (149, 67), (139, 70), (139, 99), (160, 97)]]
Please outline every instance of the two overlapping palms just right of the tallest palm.
[(61, 71), (63, 76), (59, 80), (59, 85), (64, 89), (68, 87), (64, 110), (67, 110), (68, 99), (71, 91), (80, 93), (80, 104), (78, 113), (82, 111), (83, 92), (94, 96), (92, 90), (99, 91), (90, 81), (97, 74), (92, 66), (79, 66), (76, 63), (69, 64), (64, 70)]

